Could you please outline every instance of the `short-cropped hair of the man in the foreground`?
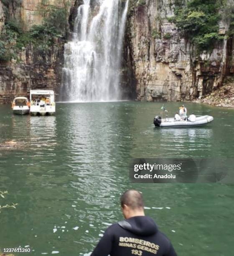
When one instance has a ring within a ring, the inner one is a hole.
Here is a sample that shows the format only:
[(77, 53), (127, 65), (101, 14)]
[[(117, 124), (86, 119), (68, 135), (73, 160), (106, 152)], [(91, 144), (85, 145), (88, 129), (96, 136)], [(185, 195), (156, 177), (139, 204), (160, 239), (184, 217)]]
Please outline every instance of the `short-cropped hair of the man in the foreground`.
[(144, 208), (142, 194), (135, 189), (125, 191), (120, 197), (120, 203), (121, 207), (127, 205), (132, 210)]

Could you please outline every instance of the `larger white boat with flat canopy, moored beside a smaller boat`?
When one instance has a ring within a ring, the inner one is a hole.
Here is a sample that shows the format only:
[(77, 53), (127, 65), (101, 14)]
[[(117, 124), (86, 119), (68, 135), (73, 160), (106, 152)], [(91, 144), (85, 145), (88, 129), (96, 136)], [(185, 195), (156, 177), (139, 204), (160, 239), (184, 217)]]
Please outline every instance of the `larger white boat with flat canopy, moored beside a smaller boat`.
[(53, 115), (55, 101), (53, 90), (30, 90), (31, 115)]

